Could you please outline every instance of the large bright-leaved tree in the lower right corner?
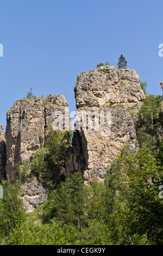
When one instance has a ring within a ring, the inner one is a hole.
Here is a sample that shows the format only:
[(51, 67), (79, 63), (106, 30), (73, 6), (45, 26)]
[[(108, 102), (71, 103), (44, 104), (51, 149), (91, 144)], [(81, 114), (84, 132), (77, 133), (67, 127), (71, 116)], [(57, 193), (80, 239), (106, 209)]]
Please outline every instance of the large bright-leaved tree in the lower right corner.
[(126, 225), (130, 236), (146, 235), (150, 243), (159, 245), (163, 231), (163, 202), (158, 197), (163, 178), (160, 163), (149, 149), (140, 149), (135, 155), (121, 159), (128, 177), (127, 203), (119, 212), (121, 223)]

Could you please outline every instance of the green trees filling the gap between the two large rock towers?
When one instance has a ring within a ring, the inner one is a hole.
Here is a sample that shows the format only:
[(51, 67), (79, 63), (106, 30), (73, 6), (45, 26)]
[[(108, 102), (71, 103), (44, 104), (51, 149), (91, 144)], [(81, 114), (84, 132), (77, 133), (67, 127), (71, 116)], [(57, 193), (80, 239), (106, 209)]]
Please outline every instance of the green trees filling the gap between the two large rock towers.
[(18, 164), (18, 178), (21, 182), (26, 182), (31, 176), (35, 176), (39, 181), (46, 179), (47, 184), (56, 186), (64, 180), (65, 153), (70, 143), (70, 131), (51, 130), (45, 147), (42, 145), (42, 149), (36, 151), (32, 161)]

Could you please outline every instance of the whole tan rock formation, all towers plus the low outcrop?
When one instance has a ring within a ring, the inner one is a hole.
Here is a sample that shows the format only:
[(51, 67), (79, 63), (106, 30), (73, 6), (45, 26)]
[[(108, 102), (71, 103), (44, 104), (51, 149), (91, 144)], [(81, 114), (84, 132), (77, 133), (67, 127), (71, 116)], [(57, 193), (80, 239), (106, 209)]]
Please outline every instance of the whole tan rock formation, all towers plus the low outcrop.
[[(72, 147), (67, 149), (65, 158), (66, 177), (79, 171), (85, 184), (93, 179), (103, 181), (110, 163), (124, 145), (135, 151), (136, 113), (145, 99), (139, 75), (135, 70), (101, 66), (79, 74), (74, 93), (76, 126)], [(1, 175), (6, 170), (9, 178), (16, 179), (17, 163), (32, 159), (45, 144), (51, 126), (71, 130), (64, 96), (15, 101), (7, 112), (5, 136), (0, 125)], [(26, 211), (32, 211), (47, 198), (46, 188), (36, 178), (23, 184), (22, 190)]]

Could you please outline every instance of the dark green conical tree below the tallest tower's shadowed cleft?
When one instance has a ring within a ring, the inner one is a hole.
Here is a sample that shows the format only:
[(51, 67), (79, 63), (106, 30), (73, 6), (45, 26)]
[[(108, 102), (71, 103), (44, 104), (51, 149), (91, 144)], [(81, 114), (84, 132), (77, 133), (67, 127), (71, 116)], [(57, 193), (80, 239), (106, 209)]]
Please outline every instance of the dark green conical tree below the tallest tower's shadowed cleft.
[(57, 190), (49, 196), (43, 220), (48, 222), (51, 218), (62, 224), (73, 224), (82, 231), (85, 223), (84, 205), (87, 200), (87, 188), (83, 183), (81, 173), (74, 173), (71, 179), (62, 182)]

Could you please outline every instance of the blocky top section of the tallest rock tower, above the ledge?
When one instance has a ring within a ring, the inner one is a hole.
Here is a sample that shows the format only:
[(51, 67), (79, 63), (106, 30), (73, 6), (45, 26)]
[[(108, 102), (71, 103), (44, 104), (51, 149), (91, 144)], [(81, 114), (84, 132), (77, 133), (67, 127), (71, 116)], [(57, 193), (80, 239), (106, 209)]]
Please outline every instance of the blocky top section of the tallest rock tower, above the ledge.
[(140, 104), (145, 94), (135, 70), (101, 66), (77, 76), (74, 88), (76, 107), (104, 107)]

